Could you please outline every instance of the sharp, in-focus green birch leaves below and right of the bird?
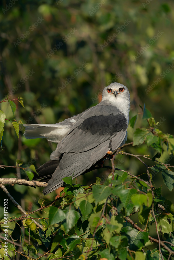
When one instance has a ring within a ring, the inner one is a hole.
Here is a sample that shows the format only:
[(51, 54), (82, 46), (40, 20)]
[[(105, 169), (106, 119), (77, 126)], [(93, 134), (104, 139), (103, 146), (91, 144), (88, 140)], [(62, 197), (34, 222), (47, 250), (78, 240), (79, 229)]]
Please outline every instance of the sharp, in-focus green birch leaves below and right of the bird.
[[(152, 114), (145, 105), (142, 111), (142, 118), (147, 120), (149, 126), (135, 129), (133, 146), (145, 143), (153, 147), (158, 154), (162, 154), (167, 147), (167, 152), (174, 154), (172, 136), (156, 128), (158, 122), (149, 117)], [(131, 119), (131, 127), (134, 127), (134, 124), (135, 119)], [(121, 148), (124, 148), (124, 145)], [(164, 184), (172, 191), (174, 172), (170, 167), (173, 166), (166, 165), (157, 158), (152, 160), (147, 155), (134, 155), (120, 150), (117, 150), (118, 154), (133, 156), (142, 162), (148, 181), (124, 170), (110, 173), (104, 182), (97, 178), (96, 183), (90, 186), (73, 184), (72, 177), (65, 177), (63, 180), (66, 188), (55, 201), (39, 199), (41, 207), (30, 215), (18, 219), (4, 217), (1, 220), (2, 230), (5, 229), (6, 221), (8, 235), (13, 235), (15, 223), (23, 219), (25, 232), (23, 233), (21, 228), (20, 234), (20, 254), (23, 257), (126, 260), (139, 257), (159, 259), (159, 255), (169, 259), (171, 254), (174, 254), (174, 204), (161, 196), (161, 187), (154, 188), (152, 185), (153, 177), (162, 174)], [(140, 157), (150, 159), (152, 166), (147, 166)], [(16, 165), (22, 165), (22, 161), (16, 160)], [(34, 165), (31, 165), (30, 169), (35, 172)], [(32, 180), (32, 175), (31, 179), (29, 174), (27, 176)], [(41, 211), (48, 217), (43, 216)], [(129, 218), (134, 214), (138, 216), (139, 225)], [(8, 216), (4, 216), (6, 215)], [(38, 218), (41, 228), (35, 224), (33, 218)], [(167, 245), (160, 241), (159, 235), (158, 239), (152, 237), (154, 226), (161, 236), (167, 239)], [(30, 237), (26, 243), (25, 237), (28, 233)], [(150, 241), (157, 243), (155, 251), (146, 250), (145, 246)], [(165, 252), (161, 251), (158, 245), (164, 246)], [(11, 256), (13, 252), (18, 252), (15, 244), (8, 244), (8, 250)], [(4, 252), (1, 251), (3, 257)], [(42, 252), (41, 256), (38, 255), (39, 252)]]

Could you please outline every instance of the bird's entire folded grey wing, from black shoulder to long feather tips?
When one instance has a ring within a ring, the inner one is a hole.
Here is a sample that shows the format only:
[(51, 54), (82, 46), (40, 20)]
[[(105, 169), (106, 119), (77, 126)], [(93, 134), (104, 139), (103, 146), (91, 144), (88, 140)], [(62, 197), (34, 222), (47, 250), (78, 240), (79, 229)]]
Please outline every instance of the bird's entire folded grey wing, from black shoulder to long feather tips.
[(59, 142), (57, 152), (63, 153), (63, 157), (43, 190), (44, 194), (62, 186), (62, 178), (73, 173), (75, 178), (103, 158), (112, 149), (114, 138), (117, 139), (114, 145), (118, 147), (123, 142), (128, 126), (124, 114), (109, 105), (101, 106), (99, 110), (94, 108), (81, 115), (80, 123), (75, 123), (74, 129)]

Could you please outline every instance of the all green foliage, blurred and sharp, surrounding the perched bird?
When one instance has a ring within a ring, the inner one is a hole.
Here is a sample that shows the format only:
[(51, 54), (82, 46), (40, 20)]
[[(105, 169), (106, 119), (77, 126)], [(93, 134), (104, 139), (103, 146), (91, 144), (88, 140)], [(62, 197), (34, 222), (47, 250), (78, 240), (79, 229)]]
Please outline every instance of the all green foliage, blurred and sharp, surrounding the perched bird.
[(0, 6), (0, 164), (12, 166), (1, 168), (1, 178), (32, 180), (56, 148), (25, 139), (22, 123), (56, 123), (81, 113), (112, 82), (130, 90), (127, 142), (133, 140), (116, 156), (120, 170), (114, 180), (107, 160), (77, 183), (65, 179), (54, 202), (57, 191), (43, 197), (41, 187), (5, 186), (26, 217), (0, 189), (1, 198), (8, 198), (9, 255), (15, 258), (16, 250), (26, 256), (16, 252), (22, 260), (170, 259), (165, 246), (174, 247), (173, 2), (12, 0)]

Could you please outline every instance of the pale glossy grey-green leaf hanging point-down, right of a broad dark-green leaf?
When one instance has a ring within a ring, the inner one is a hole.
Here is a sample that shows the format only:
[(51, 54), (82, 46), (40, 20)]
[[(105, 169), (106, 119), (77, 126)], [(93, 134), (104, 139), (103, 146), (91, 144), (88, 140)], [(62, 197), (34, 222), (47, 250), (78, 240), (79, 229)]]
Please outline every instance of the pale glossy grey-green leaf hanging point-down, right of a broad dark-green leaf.
[(63, 220), (62, 225), (64, 226), (65, 233), (68, 233), (69, 230), (77, 223), (77, 220), (80, 218), (80, 213), (69, 207), (68, 209), (63, 210), (65, 213), (65, 220)]

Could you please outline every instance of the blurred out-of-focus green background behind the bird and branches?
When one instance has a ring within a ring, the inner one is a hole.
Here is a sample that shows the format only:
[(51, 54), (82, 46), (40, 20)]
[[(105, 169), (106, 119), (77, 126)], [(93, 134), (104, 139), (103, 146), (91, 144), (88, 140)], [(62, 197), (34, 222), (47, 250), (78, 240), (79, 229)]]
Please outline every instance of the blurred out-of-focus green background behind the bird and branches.
[[(3, 0), (0, 99), (6, 95), (10, 99), (23, 97), (25, 108), (16, 102), (15, 120), (57, 123), (96, 105), (103, 88), (119, 82), (130, 91), (130, 118), (140, 113), (136, 127), (147, 125), (139, 107), (145, 103), (160, 122), (159, 129), (174, 134), (173, 17), (173, 1)], [(1, 103), (1, 110), (7, 119), (13, 119), (8, 102)], [(49, 160), (56, 145), (45, 139), (27, 140), (23, 132), (21, 125), (18, 140), (12, 124), (5, 124), (0, 164), (15, 165), (20, 159), (23, 167), (34, 164), (37, 168)], [(128, 127), (127, 142), (132, 137), (133, 129)], [(146, 145), (125, 151), (150, 154), (151, 158), (156, 153)], [(161, 160), (173, 163), (167, 153)], [(145, 172), (139, 161), (125, 155), (117, 156), (115, 163), (135, 175)], [(101, 169), (87, 173), (78, 181), (91, 184), (97, 176), (105, 178), (108, 172)], [(5, 168), (1, 169), (1, 177), (24, 179), (26, 175), (22, 170)], [(161, 176), (155, 176), (154, 182), (156, 187), (163, 184)], [(7, 188), (25, 210), (39, 207), (41, 188)], [(167, 198), (165, 187), (163, 194)]]

